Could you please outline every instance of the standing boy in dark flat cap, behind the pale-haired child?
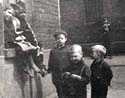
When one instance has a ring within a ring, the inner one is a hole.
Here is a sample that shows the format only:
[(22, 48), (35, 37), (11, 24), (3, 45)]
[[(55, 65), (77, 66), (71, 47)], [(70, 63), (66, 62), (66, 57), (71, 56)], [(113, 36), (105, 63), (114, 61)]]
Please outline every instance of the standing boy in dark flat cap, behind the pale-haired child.
[(67, 33), (63, 30), (58, 30), (54, 34), (56, 47), (50, 51), (48, 73), (52, 74), (52, 82), (56, 87), (58, 98), (63, 97), (61, 74), (63, 69), (69, 65)]

